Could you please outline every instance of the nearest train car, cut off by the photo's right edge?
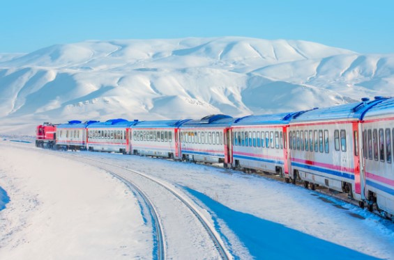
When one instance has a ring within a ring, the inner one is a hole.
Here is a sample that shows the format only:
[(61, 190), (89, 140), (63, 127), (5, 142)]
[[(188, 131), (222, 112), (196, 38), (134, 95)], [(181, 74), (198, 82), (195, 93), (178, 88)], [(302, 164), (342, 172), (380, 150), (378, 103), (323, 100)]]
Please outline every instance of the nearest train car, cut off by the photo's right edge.
[(364, 195), (394, 216), (394, 98), (365, 113), (362, 121)]

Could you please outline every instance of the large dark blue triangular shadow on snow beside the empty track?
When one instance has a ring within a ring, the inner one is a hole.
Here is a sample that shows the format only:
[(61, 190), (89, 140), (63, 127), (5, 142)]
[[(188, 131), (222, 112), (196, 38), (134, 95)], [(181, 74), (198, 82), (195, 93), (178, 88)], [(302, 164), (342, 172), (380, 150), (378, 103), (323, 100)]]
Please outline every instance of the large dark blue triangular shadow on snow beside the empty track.
[(234, 231), (255, 259), (377, 259), (285, 225), (234, 211), (203, 193), (184, 188), (212, 211), (216, 230), (222, 238), (218, 219)]

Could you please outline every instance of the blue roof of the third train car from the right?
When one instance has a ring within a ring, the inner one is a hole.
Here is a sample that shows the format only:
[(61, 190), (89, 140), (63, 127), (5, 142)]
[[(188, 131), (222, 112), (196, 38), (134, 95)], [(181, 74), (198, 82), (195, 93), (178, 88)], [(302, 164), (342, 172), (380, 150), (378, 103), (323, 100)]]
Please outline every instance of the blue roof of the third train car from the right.
[(261, 125), (261, 124), (288, 124), (291, 119), (305, 113), (306, 111), (277, 113), (268, 115), (247, 115), (234, 121), (233, 126)]

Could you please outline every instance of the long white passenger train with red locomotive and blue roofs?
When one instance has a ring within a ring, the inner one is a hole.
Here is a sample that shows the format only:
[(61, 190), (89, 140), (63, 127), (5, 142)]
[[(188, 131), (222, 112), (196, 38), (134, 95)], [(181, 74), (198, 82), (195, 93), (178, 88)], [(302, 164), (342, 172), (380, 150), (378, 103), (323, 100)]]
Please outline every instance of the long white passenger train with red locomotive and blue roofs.
[(200, 120), (45, 122), (36, 146), (219, 163), (347, 193), (394, 221), (394, 97), (305, 111)]

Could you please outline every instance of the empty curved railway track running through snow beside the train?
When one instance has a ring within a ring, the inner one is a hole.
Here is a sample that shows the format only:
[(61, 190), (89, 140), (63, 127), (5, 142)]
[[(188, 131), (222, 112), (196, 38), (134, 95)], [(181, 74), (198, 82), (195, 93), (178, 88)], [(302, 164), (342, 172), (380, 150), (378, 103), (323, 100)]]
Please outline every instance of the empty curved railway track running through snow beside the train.
[[(151, 216), (153, 217), (153, 222), (155, 223), (156, 243), (158, 247), (155, 259), (167, 258), (166, 255), (167, 243), (165, 241), (166, 231), (163, 230), (162, 224), (160, 223), (160, 212), (158, 213), (158, 210), (151, 202), (151, 199), (149, 199), (148, 195), (146, 195), (145, 192), (142, 191), (141, 188), (139, 188), (139, 186), (145, 186), (146, 182), (144, 181), (141, 182), (140, 180), (137, 180), (135, 177), (140, 177), (140, 178), (142, 177), (143, 179), (149, 180), (155, 183), (157, 186), (160, 186), (162, 189), (167, 190), (168, 193), (171, 193), (174, 197), (176, 197), (176, 200), (178, 200), (179, 202), (181, 202), (181, 204), (186, 206), (188, 211), (190, 211), (192, 215), (195, 216), (198, 222), (205, 229), (206, 234), (209, 235), (209, 238), (211, 239), (215, 249), (218, 252), (218, 257), (220, 257), (221, 259), (233, 259), (232, 254), (229, 253), (229, 251), (225, 247), (225, 243), (222, 241), (222, 238), (220, 238), (220, 234), (218, 234), (218, 232), (211, 225), (209, 220), (207, 220), (206, 217), (199, 212), (197, 206), (195, 206), (195, 204), (191, 202), (188, 199), (188, 197), (186, 197), (181, 192), (179, 192), (179, 190), (177, 190), (171, 184), (167, 184), (165, 181), (162, 181), (156, 177), (149, 176), (148, 174), (137, 172), (136, 170), (131, 170), (129, 168), (124, 168), (119, 165), (115, 165), (113, 163), (107, 163), (105, 161), (99, 161), (96, 159), (80, 156), (77, 154), (68, 154), (64, 152), (59, 152), (59, 153), (61, 153), (63, 157), (67, 157), (69, 159), (73, 159), (83, 163), (88, 163), (90, 165), (93, 165), (95, 167), (98, 167), (102, 170), (109, 172), (109, 174), (112, 174), (114, 177), (123, 181), (123, 183), (125, 183), (130, 189), (135, 190), (136, 193), (138, 193), (139, 196), (142, 197), (142, 200), (144, 200), (146, 205), (149, 207), (149, 211), (151, 212)], [(132, 173), (133, 176), (126, 174), (126, 172)], [(136, 182), (138, 182), (139, 184), (138, 185), (135, 184)]]

